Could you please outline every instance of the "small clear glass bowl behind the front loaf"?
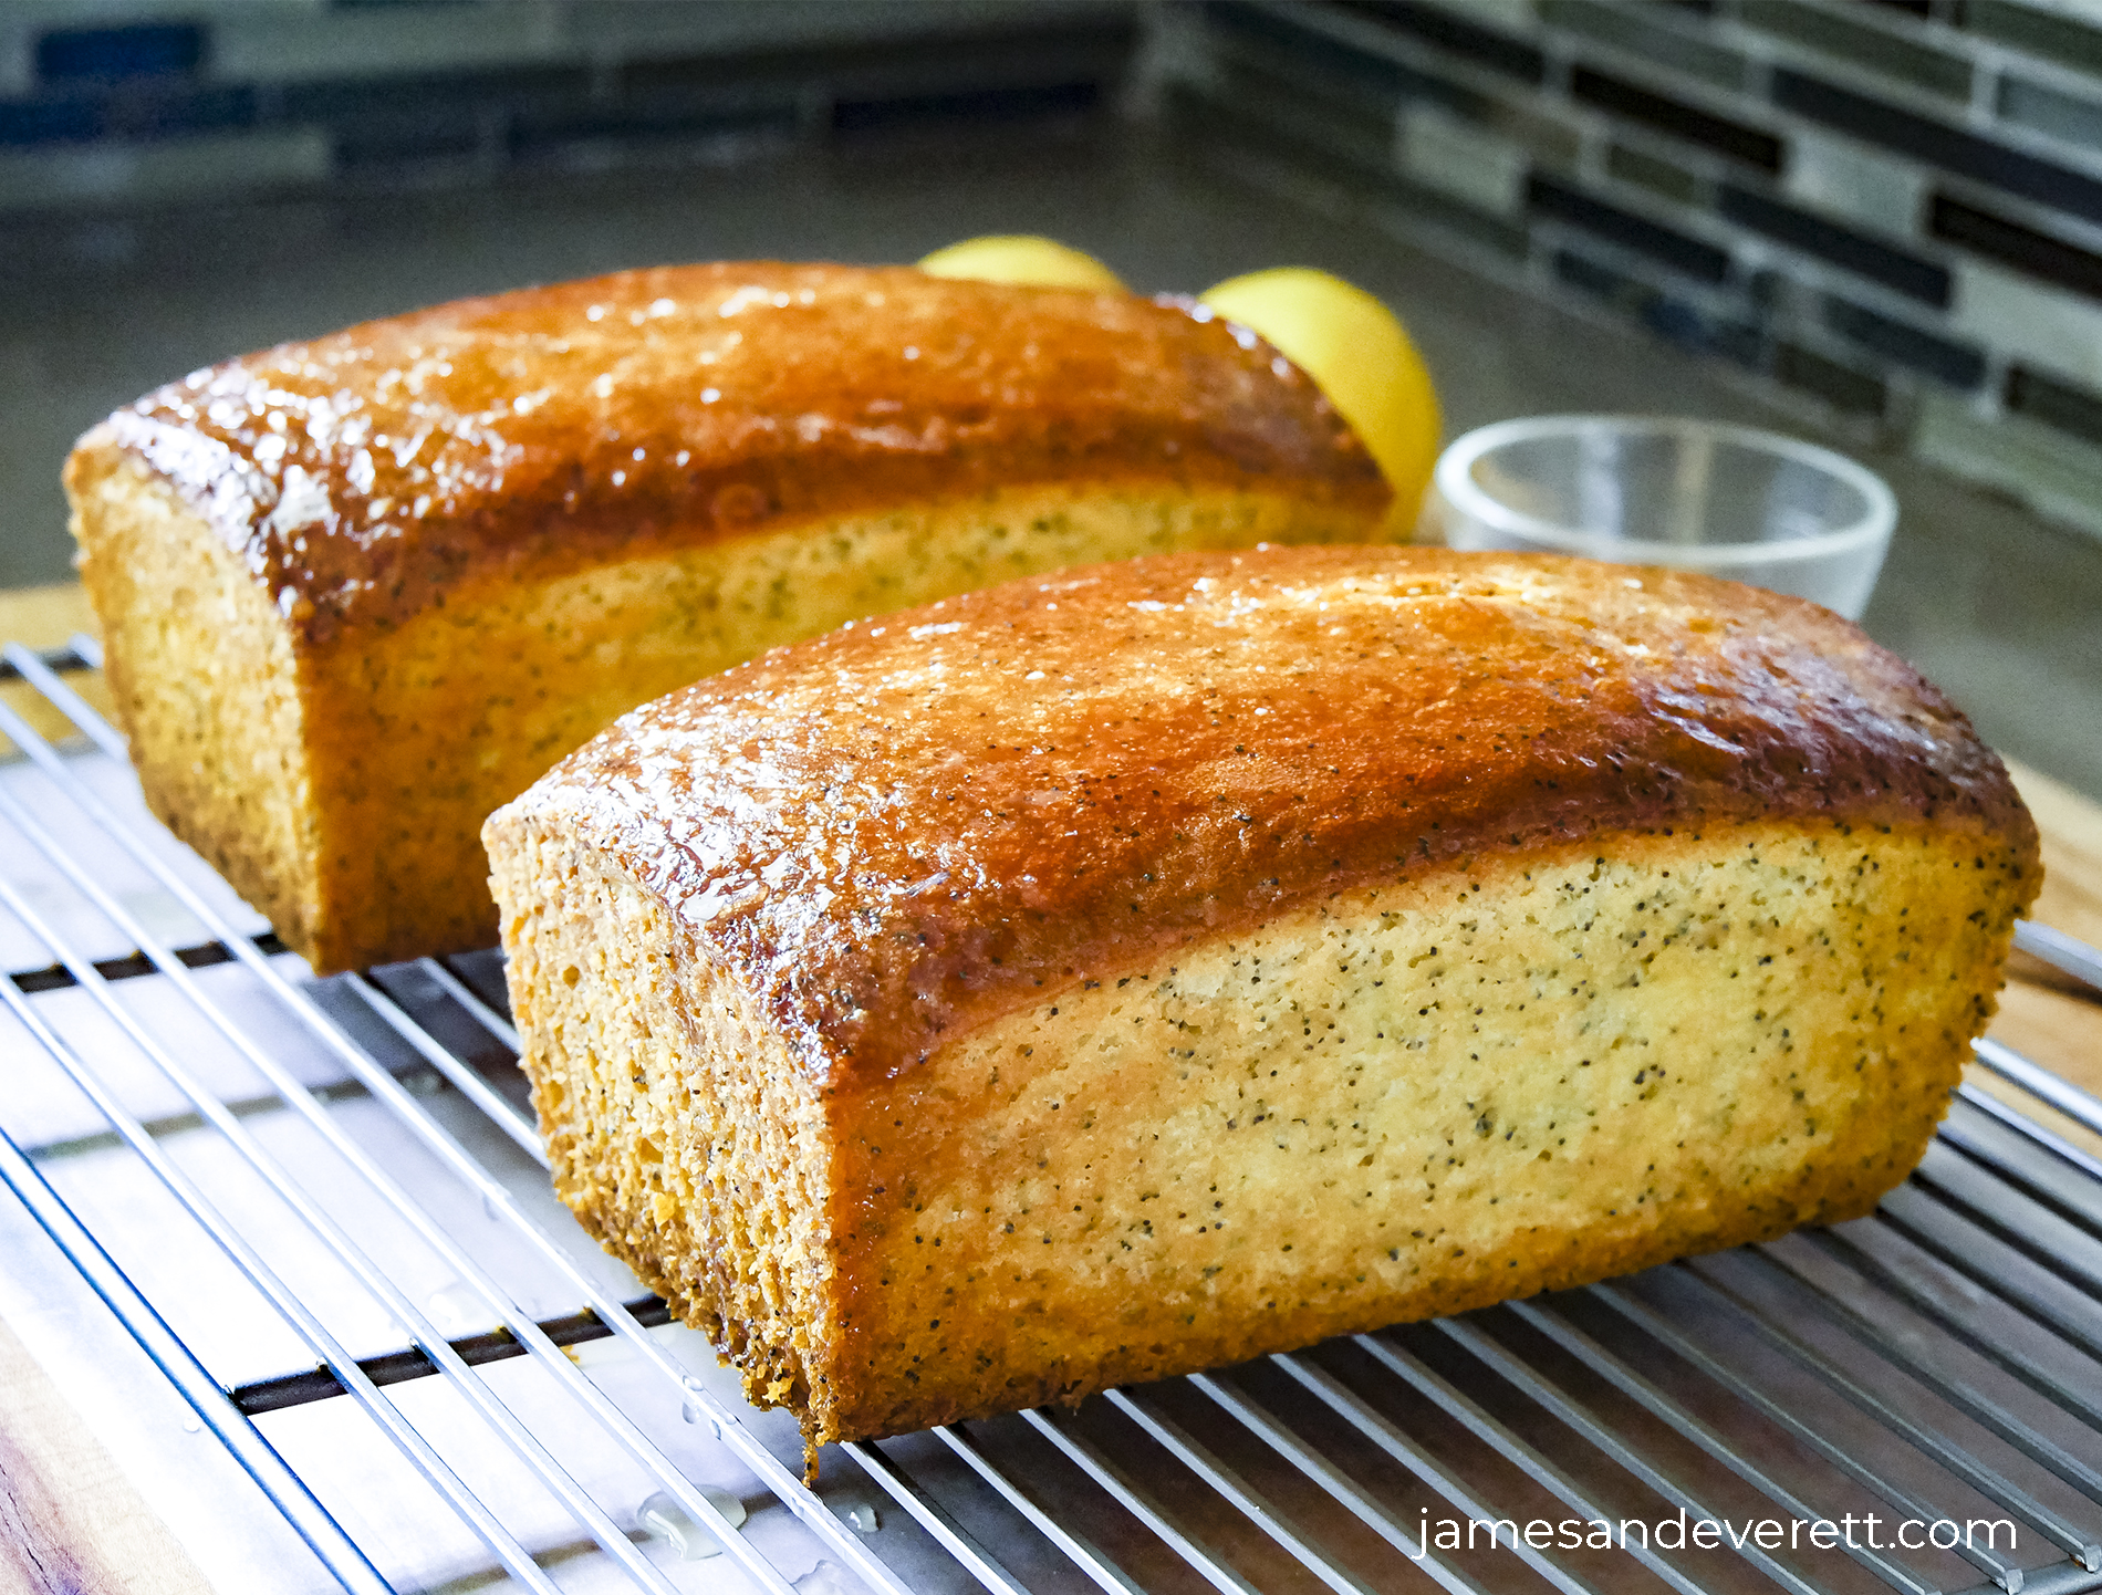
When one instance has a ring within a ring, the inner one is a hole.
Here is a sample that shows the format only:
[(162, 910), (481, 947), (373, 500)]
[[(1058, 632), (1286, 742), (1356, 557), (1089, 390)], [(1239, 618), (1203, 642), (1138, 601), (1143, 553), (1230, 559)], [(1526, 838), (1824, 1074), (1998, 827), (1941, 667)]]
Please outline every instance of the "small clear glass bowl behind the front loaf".
[(1673, 565), (1793, 593), (1848, 620), (1898, 523), (1879, 475), (1751, 427), (1677, 416), (1528, 416), (1448, 448), (1423, 527), (1455, 548)]

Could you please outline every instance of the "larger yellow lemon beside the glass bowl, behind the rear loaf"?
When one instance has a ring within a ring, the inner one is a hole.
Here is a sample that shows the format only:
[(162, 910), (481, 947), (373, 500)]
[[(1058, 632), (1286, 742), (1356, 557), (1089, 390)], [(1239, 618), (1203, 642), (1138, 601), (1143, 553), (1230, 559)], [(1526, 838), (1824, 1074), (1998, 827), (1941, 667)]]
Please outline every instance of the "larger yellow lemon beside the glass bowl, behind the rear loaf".
[(1310, 267), (1232, 277), (1204, 303), (1314, 378), (1394, 488), (1396, 530), (1415, 527), (1438, 462), (1438, 391), (1394, 311)]

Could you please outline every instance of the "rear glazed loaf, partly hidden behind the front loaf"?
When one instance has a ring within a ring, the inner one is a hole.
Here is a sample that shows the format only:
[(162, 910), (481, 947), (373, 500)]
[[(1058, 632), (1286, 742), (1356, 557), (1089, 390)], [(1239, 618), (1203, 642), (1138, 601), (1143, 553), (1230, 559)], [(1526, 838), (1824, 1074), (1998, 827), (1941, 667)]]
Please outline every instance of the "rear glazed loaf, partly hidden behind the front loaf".
[(147, 801), (322, 971), (488, 946), (483, 817), (633, 704), (1387, 506), (1318, 389), (1202, 309), (774, 263), (235, 359), (90, 431), (67, 492)]

